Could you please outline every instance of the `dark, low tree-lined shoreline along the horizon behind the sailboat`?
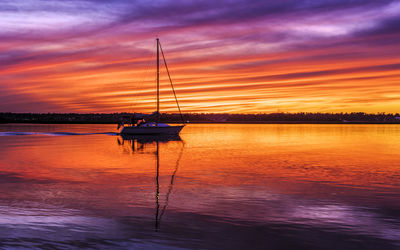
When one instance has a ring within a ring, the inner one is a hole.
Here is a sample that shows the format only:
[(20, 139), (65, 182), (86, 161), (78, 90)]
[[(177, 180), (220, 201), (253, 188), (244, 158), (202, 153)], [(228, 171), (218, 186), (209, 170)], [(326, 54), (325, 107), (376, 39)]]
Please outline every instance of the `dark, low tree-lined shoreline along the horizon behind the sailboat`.
[[(131, 121), (132, 113), (0, 113), (0, 123), (32, 124), (117, 124)], [(145, 114), (136, 114), (152, 121)], [(146, 118), (147, 117), (147, 118)], [(153, 119), (154, 121), (154, 119)], [(163, 123), (182, 123), (179, 114), (162, 113)], [(213, 114), (186, 113), (183, 121), (190, 124), (400, 124), (400, 115), (367, 113), (270, 113), (270, 114)]]

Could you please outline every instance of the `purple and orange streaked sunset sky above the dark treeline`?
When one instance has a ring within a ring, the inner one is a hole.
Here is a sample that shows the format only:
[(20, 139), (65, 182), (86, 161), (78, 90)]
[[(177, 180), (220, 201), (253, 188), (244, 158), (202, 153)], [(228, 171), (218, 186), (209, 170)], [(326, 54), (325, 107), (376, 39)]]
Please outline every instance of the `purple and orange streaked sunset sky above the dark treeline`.
[(0, 0), (0, 112), (152, 112), (156, 37), (183, 112), (400, 112), (386, 0)]

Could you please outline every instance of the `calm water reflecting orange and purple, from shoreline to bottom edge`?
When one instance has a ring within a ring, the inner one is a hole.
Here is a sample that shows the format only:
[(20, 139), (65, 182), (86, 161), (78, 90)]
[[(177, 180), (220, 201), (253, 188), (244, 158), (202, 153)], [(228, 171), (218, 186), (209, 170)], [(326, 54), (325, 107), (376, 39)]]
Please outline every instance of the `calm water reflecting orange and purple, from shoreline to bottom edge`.
[(0, 248), (400, 248), (398, 125), (113, 132), (0, 125)]

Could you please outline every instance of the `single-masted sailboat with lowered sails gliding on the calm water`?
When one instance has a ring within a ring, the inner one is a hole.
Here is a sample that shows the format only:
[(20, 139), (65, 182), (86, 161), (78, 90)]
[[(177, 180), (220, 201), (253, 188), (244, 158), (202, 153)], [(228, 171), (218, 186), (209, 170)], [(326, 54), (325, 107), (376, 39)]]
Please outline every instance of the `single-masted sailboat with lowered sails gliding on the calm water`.
[[(185, 126), (181, 109), (179, 107), (178, 99), (176, 98), (176, 93), (174, 85), (172, 84), (171, 75), (168, 70), (167, 61), (165, 60), (164, 51), (161, 47), (159, 38), (157, 41), (157, 111), (149, 115), (148, 118), (154, 118), (155, 122), (148, 122), (143, 116), (132, 117), (131, 123), (128, 126), (122, 125), (121, 134), (128, 135), (178, 135), (182, 128)], [(179, 114), (182, 119), (182, 125), (169, 125), (165, 123), (160, 123), (160, 51), (163, 57), (163, 62), (165, 68), (167, 69), (169, 81), (171, 83), (171, 88), (174, 93), (176, 105), (179, 110)]]

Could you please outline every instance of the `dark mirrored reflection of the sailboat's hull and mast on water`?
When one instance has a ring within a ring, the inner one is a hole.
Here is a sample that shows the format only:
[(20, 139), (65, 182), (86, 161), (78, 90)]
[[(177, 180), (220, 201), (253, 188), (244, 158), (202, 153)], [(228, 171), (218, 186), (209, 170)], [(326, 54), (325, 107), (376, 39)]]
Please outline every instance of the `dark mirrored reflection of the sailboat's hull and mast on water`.
[[(176, 173), (178, 172), (179, 162), (183, 155), (183, 149), (185, 147), (184, 141), (180, 138), (179, 135), (156, 135), (156, 136), (144, 136), (144, 135), (123, 135), (121, 134), (121, 139), (118, 138), (118, 145), (125, 145), (126, 143), (130, 144), (130, 148), (132, 149), (132, 153), (140, 151), (144, 152), (146, 144), (155, 144), (156, 150), (144, 153), (152, 153), (156, 158), (156, 178), (155, 178), (155, 230), (158, 231), (160, 229), (161, 219), (165, 213), (165, 210), (168, 207), (169, 197), (172, 192), (174, 186), (174, 180)], [(171, 141), (181, 142), (180, 151), (178, 153), (178, 158), (175, 162), (174, 170), (171, 174), (171, 180), (168, 185), (168, 191), (165, 195), (164, 205), (161, 205), (160, 200), (160, 144), (168, 143)]]

